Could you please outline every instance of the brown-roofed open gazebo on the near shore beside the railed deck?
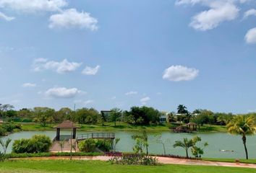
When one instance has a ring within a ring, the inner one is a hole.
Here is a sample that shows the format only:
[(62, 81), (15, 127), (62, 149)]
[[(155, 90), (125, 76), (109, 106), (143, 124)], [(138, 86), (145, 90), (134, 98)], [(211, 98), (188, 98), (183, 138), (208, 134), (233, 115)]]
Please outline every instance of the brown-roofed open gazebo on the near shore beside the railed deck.
[[(70, 138), (72, 139), (75, 139), (76, 136), (77, 136), (77, 128), (80, 128), (78, 127), (77, 125), (75, 125), (72, 121), (70, 120), (65, 120), (64, 122), (62, 122), (61, 124), (57, 125), (56, 127), (56, 138), (55, 140), (56, 141), (60, 141), (60, 140), (69, 140)], [(72, 136), (69, 136), (69, 135), (64, 135), (64, 136), (61, 136), (60, 135), (60, 132), (61, 132), (61, 128), (64, 128), (64, 129), (72, 129)]]

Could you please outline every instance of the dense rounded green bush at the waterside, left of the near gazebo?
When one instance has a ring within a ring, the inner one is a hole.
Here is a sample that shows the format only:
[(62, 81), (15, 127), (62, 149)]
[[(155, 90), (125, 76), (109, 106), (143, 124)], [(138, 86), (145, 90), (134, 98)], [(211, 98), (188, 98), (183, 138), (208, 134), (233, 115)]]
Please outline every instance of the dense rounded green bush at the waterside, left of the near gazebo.
[(45, 135), (36, 135), (30, 139), (15, 140), (12, 145), (14, 153), (42, 153), (49, 151), (51, 139)]

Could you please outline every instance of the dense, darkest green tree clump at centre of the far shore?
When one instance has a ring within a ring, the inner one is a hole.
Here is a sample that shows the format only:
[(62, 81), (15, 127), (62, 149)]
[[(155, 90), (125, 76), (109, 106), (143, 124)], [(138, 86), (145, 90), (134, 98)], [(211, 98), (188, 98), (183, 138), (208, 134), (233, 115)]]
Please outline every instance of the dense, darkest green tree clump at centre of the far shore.
[(136, 125), (148, 125), (159, 123), (161, 112), (153, 107), (131, 107), (129, 111), (124, 111), (124, 121)]

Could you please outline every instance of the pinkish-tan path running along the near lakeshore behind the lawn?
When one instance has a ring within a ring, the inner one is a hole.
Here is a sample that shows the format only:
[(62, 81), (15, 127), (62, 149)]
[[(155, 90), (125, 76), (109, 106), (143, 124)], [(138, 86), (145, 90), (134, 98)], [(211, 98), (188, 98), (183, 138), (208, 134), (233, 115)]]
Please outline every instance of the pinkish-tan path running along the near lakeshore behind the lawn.
[[(256, 169), (256, 164), (242, 164), (242, 163), (229, 163), (221, 161), (202, 161), (192, 159), (176, 159), (169, 157), (157, 157), (161, 164), (185, 164), (185, 165), (204, 165), (204, 166), (218, 166), (218, 167), (246, 167)], [(13, 158), (12, 160), (56, 160), (56, 159), (69, 159), (69, 156), (50, 156), (50, 157), (30, 157), (30, 158)], [(108, 161), (111, 156), (73, 156), (74, 160), (101, 160)]]

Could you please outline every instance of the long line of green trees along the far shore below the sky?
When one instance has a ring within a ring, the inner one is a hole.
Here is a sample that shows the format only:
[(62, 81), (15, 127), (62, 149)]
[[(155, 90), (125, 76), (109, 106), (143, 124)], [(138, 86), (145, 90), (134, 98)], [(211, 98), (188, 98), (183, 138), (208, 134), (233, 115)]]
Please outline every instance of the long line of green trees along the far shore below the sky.
[[(60, 110), (54, 110), (50, 107), (34, 107), (33, 109), (23, 108), (14, 110), (12, 105), (0, 104), (0, 118), (14, 122), (36, 122), (42, 126), (48, 123), (61, 123), (64, 120), (72, 120), (80, 124), (97, 124), (105, 122), (125, 122), (131, 125), (149, 125), (160, 123), (160, 117), (163, 112), (156, 110), (153, 107), (131, 107), (129, 110), (120, 110), (113, 108), (109, 115), (105, 115), (94, 108), (81, 108), (71, 110), (68, 107), (63, 107)], [(256, 113), (249, 113), (256, 117)], [(176, 112), (168, 113), (168, 123), (189, 123), (194, 122), (197, 125), (227, 125), (235, 115), (232, 113), (213, 112), (211, 110), (197, 109), (192, 112), (187, 110), (184, 105), (179, 105)]]

